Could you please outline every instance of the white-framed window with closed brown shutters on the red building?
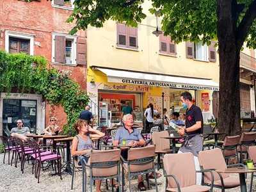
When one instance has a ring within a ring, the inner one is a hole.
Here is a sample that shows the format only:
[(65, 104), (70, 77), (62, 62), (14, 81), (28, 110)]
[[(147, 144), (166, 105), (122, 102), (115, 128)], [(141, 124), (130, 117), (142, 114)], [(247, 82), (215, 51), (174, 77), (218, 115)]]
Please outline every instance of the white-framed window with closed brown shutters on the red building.
[(6, 31), (5, 40), (6, 52), (25, 52), (29, 55), (34, 54), (33, 35), (23, 34), (17, 31)]

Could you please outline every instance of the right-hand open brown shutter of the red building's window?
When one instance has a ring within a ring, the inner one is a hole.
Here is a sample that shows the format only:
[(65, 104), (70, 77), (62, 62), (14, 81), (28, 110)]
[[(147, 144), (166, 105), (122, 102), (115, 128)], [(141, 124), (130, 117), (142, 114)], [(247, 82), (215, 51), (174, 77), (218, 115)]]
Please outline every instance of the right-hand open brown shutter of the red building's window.
[(76, 63), (86, 65), (86, 38), (77, 37), (76, 40)]

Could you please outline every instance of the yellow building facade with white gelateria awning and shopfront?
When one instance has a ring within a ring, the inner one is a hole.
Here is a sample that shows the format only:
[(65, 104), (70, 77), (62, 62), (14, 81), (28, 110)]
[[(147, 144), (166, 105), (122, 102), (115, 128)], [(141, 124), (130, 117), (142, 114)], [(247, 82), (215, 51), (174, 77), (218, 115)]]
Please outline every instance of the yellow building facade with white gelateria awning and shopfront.
[[(144, 6), (144, 10), (148, 10), (150, 1), (146, 1)], [(134, 33), (134, 48), (120, 45), (119, 24), (115, 21), (107, 21), (103, 28), (88, 28), (88, 95), (99, 108), (102, 103), (108, 106), (107, 125), (111, 126), (120, 121), (120, 111), (126, 101), (136, 111), (138, 124), (142, 122), (143, 111), (150, 102), (159, 112), (166, 108), (168, 115), (174, 111), (184, 113), (180, 93), (188, 90), (195, 104), (202, 109), (204, 121), (207, 122), (214, 113), (212, 95), (218, 91), (218, 54), (215, 54), (216, 61), (211, 62), (208, 59), (210, 48), (194, 44), (192, 54), (201, 54), (203, 59), (195, 55), (188, 58), (186, 42), (175, 44), (175, 54), (163, 53), (166, 47), (162, 47), (161, 37), (152, 34), (156, 30), (156, 17), (149, 12), (146, 14), (147, 18)], [(126, 36), (130, 40), (126, 39), (126, 42), (130, 45), (131, 36)], [(202, 49), (204, 51), (200, 52)], [(96, 112), (99, 113), (102, 110)]]

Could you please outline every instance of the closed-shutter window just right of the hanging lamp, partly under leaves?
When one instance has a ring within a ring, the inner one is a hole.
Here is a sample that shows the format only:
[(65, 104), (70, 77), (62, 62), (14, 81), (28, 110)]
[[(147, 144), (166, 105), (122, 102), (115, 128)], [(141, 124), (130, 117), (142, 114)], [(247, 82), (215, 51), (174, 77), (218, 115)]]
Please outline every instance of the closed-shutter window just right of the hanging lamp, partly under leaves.
[(176, 45), (175, 42), (172, 41), (170, 36), (164, 36), (161, 34), (159, 36), (160, 42), (160, 52), (163, 54), (171, 54), (176, 55)]

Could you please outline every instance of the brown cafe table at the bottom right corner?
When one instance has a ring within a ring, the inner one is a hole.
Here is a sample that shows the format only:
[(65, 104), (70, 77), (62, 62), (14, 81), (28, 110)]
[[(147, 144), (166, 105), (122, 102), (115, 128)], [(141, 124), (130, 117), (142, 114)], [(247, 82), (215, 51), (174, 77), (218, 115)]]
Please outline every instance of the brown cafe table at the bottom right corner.
[(253, 173), (256, 172), (256, 170), (249, 170), (247, 168), (227, 168), (226, 170), (215, 170), (215, 172), (218, 173), (238, 173), (239, 174), (239, 180), (240, 180), (240, 189), (241, 192), (246, 192), (246, 182), (245, 182), (245, 173)]

